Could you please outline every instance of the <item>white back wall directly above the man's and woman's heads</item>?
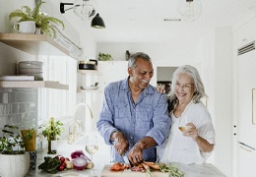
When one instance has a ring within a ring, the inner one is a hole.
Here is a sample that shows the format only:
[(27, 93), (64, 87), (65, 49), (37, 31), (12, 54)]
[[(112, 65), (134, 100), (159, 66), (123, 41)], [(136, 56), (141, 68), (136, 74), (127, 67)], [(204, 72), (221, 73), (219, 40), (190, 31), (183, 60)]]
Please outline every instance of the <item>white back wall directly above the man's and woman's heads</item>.
[(111, 54), (114, 61), (124, 61), (125, 51), (131, 54), (136, 52), (147, 53), (153, 61), (155, 75), (151, 84), (157, 84), (157, 67), (176, 67), (184, 64), (198, 66), (198, 59), (195, 57), (195, 45), (189, 41), (179, 43), (97, 43), (96, 52)]

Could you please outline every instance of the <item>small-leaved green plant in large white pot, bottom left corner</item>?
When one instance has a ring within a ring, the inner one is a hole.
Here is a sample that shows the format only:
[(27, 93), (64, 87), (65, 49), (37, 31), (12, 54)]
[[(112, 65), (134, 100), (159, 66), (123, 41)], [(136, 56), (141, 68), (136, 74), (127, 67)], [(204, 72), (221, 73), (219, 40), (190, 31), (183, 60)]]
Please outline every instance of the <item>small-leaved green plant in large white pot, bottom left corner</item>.
[(0, 176), (24, 177), (30, 170), (30, 154), (24, 150), (19, 127), (5, 125), (0, 137)]

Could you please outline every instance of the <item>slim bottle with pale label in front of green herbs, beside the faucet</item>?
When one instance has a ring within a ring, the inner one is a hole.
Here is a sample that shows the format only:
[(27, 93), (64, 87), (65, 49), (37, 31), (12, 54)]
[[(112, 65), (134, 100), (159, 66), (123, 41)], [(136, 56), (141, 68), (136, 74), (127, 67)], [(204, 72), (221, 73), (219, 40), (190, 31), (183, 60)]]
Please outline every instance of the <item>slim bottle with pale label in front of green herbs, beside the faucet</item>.
[(48, 132), (48, 154), (55, 154), (57, 153), (57, 136), (55, 133), (55, 126), (54, 126), (54, 118), (50, 118), (50, 128)]

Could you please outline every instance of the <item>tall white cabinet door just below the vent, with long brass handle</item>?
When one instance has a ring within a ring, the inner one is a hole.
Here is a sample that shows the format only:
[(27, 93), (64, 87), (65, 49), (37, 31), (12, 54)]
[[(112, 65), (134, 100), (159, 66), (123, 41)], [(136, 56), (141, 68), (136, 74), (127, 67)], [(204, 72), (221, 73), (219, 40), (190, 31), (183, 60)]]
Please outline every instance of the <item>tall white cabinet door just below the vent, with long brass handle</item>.
[(256, 148), (256, 52), (238, 56), (238, 141)]

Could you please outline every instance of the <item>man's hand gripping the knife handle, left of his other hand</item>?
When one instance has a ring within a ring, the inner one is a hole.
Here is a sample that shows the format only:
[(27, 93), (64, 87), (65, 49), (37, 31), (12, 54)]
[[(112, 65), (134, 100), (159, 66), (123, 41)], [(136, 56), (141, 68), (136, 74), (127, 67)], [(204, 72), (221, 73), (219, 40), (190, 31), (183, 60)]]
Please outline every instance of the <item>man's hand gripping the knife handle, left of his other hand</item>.
[(113, 132), (111, 134), (111, 140), (114, 141), (114, 148), (120, 156), (128, 150), (129, 142), (121, 132)]

